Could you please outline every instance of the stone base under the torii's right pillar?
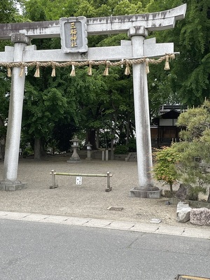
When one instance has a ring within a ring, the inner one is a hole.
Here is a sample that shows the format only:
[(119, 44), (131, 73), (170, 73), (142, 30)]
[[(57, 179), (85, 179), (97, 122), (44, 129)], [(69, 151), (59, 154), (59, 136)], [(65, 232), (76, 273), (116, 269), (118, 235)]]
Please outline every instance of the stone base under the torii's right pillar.
[(130, 197), (141, 197), (141, 198), (160, 198), (162, 190), (157, 187), (149, 188), (132, 188), (130, 190)]

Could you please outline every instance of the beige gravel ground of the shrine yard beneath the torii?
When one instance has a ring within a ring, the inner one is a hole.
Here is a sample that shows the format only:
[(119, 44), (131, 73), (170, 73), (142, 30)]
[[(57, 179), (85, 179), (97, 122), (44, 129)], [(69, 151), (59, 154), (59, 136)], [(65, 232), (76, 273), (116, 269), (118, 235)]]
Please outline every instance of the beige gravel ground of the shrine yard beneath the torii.
[[(165, 225), (189, 228), (209, 228), (176, 221), (176, 204), (167, 205), (167, 197), (143, 199), (129, 197), (129, 190), (138, 186), (137, 162), (81, 160), (69, 164), (67, 157), (48, 156), (45, 160), (20, 159), (18, 180), (27, 182), (27, 188), (15, 192), (0, 191), (0, 211), (31, 214), (50, 214), (83, 218), (99, 218), (111, 221), (151, 223), (159, 218)], [(106, 178), (85, 177), (82, 185), (76, 185), (76, 176), (56, 176), (58, 188), (50, 189), (50, 171), (85, 174), (111, 172), (111, 192), (105, 192)], [(3, 180), (3, 162), (0, 162), (0, 181)], [(156, 183), (163, 190), (168, 186)], [(178, 186), (175, 186), (175, 190)], [(204, 198), (204, 197), (202, 197)], [(122, 211), (108, 207), (123, 207)]]

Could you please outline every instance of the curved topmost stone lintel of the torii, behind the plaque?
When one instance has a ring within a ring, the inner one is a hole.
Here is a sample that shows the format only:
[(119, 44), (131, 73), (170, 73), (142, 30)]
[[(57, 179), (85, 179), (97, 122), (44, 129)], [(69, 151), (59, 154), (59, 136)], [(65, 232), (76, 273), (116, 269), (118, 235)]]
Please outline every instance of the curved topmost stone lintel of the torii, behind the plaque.
[[(130, 27), (143, 26), (148, 31), (174, 28), (176, 20), (186, 14), (186, 4), (158, 13), (120, 15), (87, 19), (87, 34), (127, 33)], [(30, 38), (52, 38), (60, 36), (59, 20), (47, 22), (18, 22), (0, 25), (0, 40), (10, 39), (12, 34), (22, 33)]]

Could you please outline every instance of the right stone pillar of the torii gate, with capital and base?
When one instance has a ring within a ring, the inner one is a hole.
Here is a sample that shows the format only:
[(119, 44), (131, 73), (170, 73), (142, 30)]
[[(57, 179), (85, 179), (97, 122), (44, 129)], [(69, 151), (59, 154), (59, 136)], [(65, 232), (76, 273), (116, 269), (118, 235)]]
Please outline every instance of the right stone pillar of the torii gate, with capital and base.
[[(131, 27), (129, 29), (128, 35), (132, 39), (132, 52), (134, 57), (144, 57), (144, 38), (147, 34), (147, 29), (142, 26)], [(133, 84), (139, 187), (131, 190), (130, 195), (147, 197), (147, 191), (149, 190), (151, 192), (153, 190), (152, 195), (158, 195), (159, 197), (160, 191), (158, 188), (154, 189), (151, 183), (153, 162), (151, 156), (150, 113), (145, 63), (133, 65)], [(142, 192), (142, 190), (144, 191)]]

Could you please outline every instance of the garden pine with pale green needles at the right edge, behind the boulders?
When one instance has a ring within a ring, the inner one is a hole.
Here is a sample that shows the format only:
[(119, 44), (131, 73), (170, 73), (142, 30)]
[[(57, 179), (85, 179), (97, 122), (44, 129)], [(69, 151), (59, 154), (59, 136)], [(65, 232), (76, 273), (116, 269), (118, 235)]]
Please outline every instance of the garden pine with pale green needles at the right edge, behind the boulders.
[(186, 127), (180, 134), (184, 141), (176, 144), (181, 153), (179, 174), (185, 183), (202, 188), (210, 183), (210, 102), (181, 113), (177, 125)]

